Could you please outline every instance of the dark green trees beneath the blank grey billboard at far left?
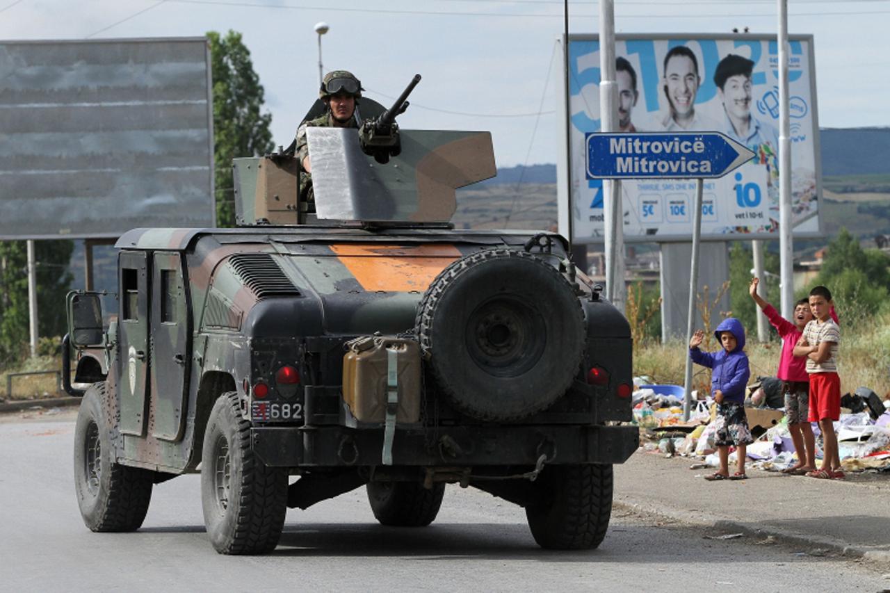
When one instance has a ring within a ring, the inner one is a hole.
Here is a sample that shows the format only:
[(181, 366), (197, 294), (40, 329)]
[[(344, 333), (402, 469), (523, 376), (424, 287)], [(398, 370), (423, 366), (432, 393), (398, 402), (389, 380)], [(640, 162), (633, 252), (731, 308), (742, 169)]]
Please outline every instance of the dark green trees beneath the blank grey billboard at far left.
[[(74, 242), (35, 241), (37, 280), (37, 333), (61, 336), (66, 331), (65, 307), (60, 295), (72, 280), (68, 271)], [(20, 361), (27, 352), (28, 247), (25, 241), (0, 242), (0, 366)]]

